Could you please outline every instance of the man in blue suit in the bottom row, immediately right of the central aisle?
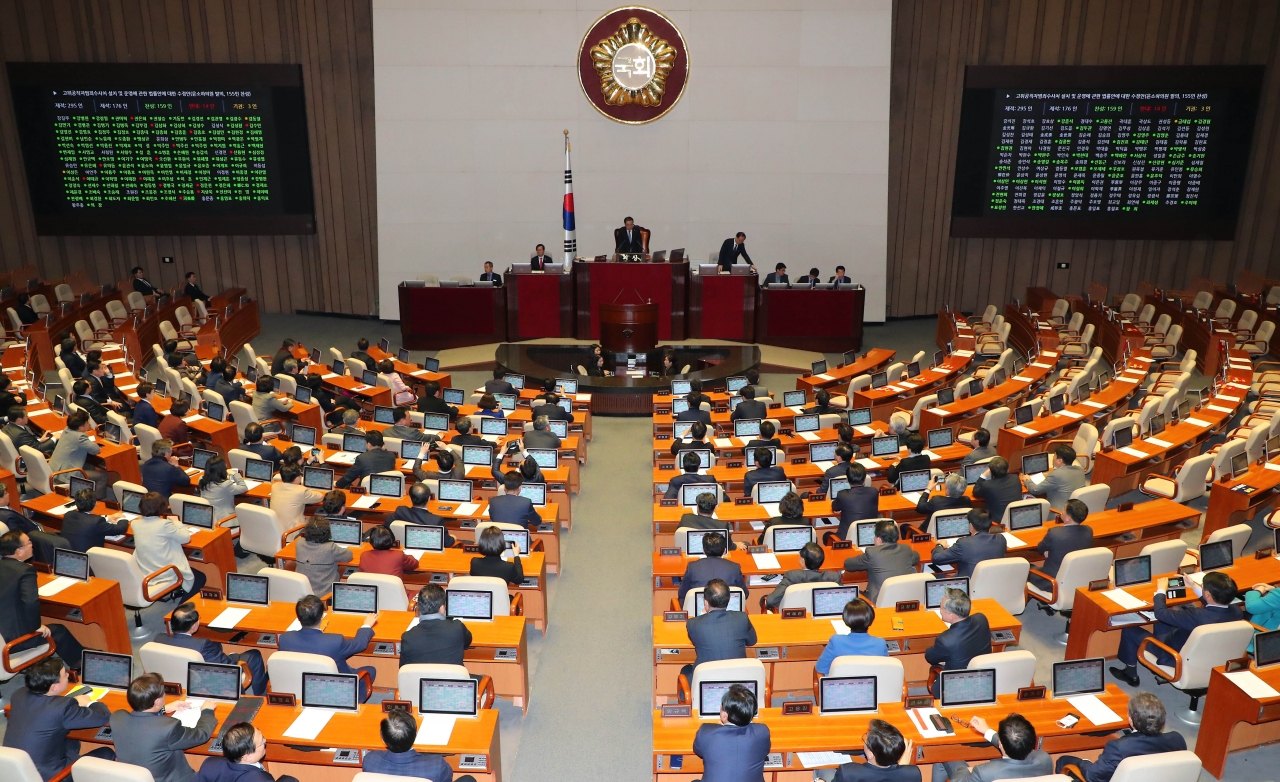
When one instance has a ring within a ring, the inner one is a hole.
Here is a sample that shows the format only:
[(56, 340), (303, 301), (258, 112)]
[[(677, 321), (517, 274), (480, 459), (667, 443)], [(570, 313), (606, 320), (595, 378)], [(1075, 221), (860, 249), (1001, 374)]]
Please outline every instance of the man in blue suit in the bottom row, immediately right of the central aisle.
[(719, 724), (703, 724), (694, 736), (694, 754), (703, 759), (703, 782), (764, 779), (772, 738), (769, 726), (753, 723), (755, 694), (732, 685), (721, 699)]

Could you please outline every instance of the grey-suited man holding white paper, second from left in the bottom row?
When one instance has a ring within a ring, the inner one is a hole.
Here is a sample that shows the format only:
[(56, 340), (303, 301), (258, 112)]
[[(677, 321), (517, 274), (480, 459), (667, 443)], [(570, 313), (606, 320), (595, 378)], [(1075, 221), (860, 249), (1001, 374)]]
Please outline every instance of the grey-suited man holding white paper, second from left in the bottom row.
[(173, 710), (166, 714), (164, 677), (159, 673), (143, 673), (129, 682), (127, 699), (131, 710), (122, 709), (111, 714), (115, 759), (141, 765), (151, 772), (155, 782), (195, 779), (196, 772), (187, 762), (184, 751), (207, 744), (214, 735), (214, 728), (218, 727), (214, 706), (201, 709), (196, 727), (183, 727), (169, 714), (186, 712), (191, 708), (191, 701), (174, 704)]

